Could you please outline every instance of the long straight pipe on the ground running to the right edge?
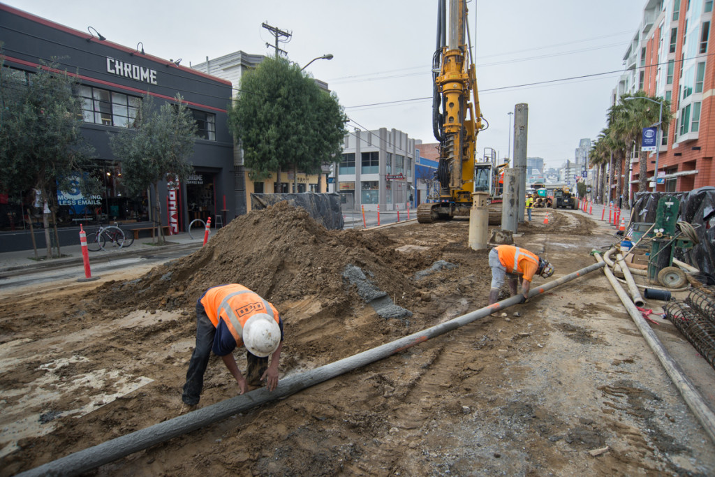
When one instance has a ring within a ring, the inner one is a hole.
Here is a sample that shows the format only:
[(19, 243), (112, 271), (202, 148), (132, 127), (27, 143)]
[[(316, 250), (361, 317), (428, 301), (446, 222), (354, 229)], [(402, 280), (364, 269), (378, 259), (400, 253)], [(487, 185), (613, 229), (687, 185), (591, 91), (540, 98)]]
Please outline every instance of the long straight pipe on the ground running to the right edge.
[[(599, 263), (603, 262), (603, 257), (601, 254), (594, 250), (593, 255), (596, 257)], [(701, 426), (705, 429), (705, 432), (710, 436), (711, 441), (715, 443), (715, 413), (708, 407), (707, 403), (703, 399), (702, 395), (699, 393), (695, 385), (691, 380), (685, 375), (680, 365), (674, 360), (668, 350), (664, 348), (663, 344), (660, 342), (654, 330), (651, 329), (650, 325), (646, 323), (645, 318), (641, 314), (640, 310), (633, 305), (626, 291), (616, 280), (616, 276), (613, 275), (611, 269), (608, 267), (603, 267), (603, 273), (606, 274), (608, 282), (611, 282), (611, 287), (618, 295), (618, 298), (626, 307), (628, 315), (631, 315), (633, 323), (636, 323), (636, 328), (641, 332), (643, 338), (645, 338), (646, 343), (651, 347), (651, 350), (656, 354), (656, 357), (660, 360), (661, 365), (665, 368), (666, 373), (673, 380), (673, 384), (678, 388), (681, 395), (683, 396), (685, 402), (691, 411), (695, 414), (695, 417), (700, 422)]]

